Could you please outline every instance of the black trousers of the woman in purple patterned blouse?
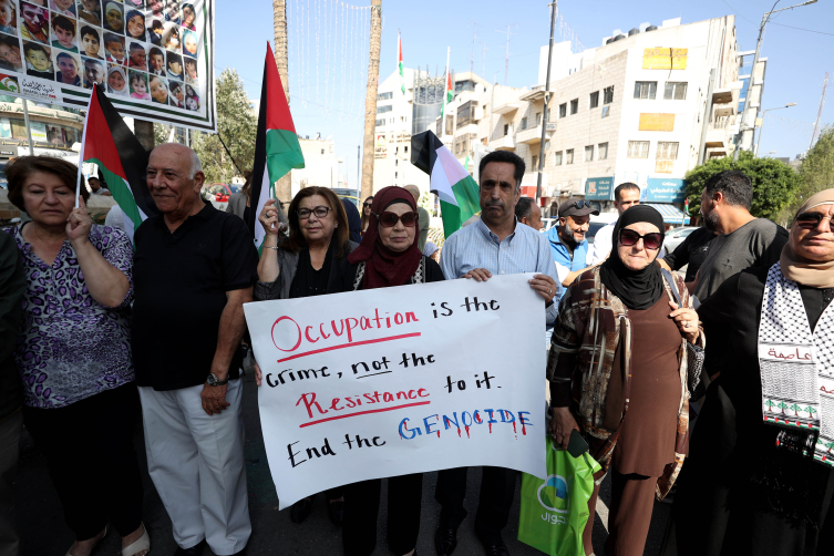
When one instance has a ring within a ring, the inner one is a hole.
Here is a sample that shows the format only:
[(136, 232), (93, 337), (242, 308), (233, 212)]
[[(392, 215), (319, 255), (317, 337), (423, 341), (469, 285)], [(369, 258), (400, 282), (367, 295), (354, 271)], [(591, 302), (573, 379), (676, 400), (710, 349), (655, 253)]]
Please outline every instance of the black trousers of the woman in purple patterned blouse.
[(107, 523), (121, 536), (142, 523), (142, 477), (133, 450), (137, 410), (133, 383), (64, 408), (23, 408), (23, 422), (47, 456), (76, 540), (94, 537)]

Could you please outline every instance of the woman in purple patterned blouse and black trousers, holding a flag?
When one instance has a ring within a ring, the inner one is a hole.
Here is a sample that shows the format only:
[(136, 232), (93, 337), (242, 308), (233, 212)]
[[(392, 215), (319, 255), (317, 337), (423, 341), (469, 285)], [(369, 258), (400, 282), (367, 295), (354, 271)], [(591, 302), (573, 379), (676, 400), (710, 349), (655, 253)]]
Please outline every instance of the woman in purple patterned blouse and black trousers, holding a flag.
[(110, 523), (123, 555), (141, 556), (151, 545), (132, 439), (133, 248), (124, 231), (92, 223), (86, 191), (73, 208), (75, 165), (23, 156), (6, 174), (9, 200), (32, 218), (7, 230), (29, 281), (14, 351), (23, 419), (75, 535), (68, 555), (90, 554)]

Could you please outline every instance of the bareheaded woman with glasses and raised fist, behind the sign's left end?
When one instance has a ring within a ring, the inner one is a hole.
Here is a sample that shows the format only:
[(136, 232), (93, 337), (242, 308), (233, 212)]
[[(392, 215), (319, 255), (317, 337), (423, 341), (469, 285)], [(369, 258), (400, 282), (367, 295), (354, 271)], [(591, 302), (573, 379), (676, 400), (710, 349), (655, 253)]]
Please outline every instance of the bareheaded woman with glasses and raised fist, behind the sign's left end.
[[(348, 239), (348, 215), (339, 197), (327, 187), (305, 187), (289, 205), (289, 237), (282, 234), (275, 200), (267, 200), (258, 220), (266, 236), (258, 262), (258, 281), (253, 298), (296, 299), (341, 291), (350, 272), (348, 255), (357, 244)], [(260, 368), (255, 365), (255, 381), (261, 383)], [(328, 516), (334, 525), (342, 522), (341, 488), (327, 491)], [(312, 496), (292, 504), (289, 517), (301, 523), (312, 511)]]

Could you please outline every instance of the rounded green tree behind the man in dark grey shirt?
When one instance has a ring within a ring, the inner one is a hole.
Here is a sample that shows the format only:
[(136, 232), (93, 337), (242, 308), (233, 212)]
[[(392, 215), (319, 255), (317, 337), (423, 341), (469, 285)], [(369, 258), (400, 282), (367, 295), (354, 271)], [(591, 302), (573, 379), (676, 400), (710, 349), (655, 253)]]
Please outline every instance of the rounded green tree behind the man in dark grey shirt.
[(759, 218), (775, 219), (800, 189), (800, 175), (787, 164), (775, 158), (756, 158), (744, 151), (738, 162), (732, 156), (713, 158), (687, 172), (689, 212), (697, 215), (701, 208), (701, 192), (707, 181), (725, 169), (738, 169), (753, 182), (753, 203), (750, 214)]

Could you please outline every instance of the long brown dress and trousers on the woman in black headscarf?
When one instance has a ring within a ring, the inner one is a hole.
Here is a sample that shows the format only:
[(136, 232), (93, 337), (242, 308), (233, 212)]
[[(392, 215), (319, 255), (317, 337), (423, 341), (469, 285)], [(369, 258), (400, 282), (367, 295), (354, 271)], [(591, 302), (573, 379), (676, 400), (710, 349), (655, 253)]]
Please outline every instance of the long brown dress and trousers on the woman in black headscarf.
[[(670, 312), (667, 296), (661, 296), (649, 309), (628, 311), (631, 322), (631, 390), (628, 412), (611, 457), (611, 507), (606, 542), (609, 556), (642, 555), (657, 480), (663, 474), (666, 464), (675, 461), (681, 336), (669, 318)], [(625, 384), (618, 380), (622, 375), (621, 369), (621, 350), (618, 348), (606, 395), (606, 416), (610, 414), (615, 419), (622, 414), (621, 401), (617, 401), (625, 399)], [(590, 502), (596, 504), (596, 492)]]

